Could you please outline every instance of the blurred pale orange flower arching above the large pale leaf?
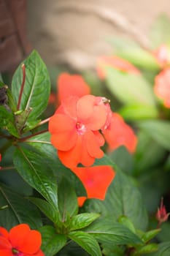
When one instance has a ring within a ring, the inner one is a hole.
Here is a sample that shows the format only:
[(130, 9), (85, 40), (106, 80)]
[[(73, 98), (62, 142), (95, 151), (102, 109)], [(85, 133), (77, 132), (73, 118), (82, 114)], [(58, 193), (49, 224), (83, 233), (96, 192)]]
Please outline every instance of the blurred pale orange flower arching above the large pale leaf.
[(101, 56), (98, 59), (97, 73), (98, 77), (104, 79), (106, 77), (105, 67), (113, 67), (124, 72), (129, 72), (133, 74), (139, 74), (139, 69), (134, 67), (130, 62), (125, 61), (117, 56)]

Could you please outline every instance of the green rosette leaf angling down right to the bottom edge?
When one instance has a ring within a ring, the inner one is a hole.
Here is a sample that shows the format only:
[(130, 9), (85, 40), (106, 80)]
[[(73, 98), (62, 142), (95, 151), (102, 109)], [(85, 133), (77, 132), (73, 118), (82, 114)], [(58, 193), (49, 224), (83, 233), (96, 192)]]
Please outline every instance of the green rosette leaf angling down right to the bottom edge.
[(68, 234), (69, 238), (79, 244), (82, 249), (91, 256), (101, 256), (101, 249), (93, 236), (82, 231), (72, 231)]

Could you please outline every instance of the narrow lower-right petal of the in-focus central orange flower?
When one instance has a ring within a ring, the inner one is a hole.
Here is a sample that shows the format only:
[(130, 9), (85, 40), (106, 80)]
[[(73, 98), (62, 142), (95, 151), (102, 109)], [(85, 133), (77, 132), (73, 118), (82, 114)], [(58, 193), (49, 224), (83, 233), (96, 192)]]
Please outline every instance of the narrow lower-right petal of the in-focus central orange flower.
[(88, 150), (88, 154), (91, 157), (101, 158), (104, 156), (104, 152), (101, 150), (100, 145), (98, 144), (98, 140), (96, 140), (96, 136), (93, 132), (88, 131), (84, 135), (85, 137), (85, 146)]

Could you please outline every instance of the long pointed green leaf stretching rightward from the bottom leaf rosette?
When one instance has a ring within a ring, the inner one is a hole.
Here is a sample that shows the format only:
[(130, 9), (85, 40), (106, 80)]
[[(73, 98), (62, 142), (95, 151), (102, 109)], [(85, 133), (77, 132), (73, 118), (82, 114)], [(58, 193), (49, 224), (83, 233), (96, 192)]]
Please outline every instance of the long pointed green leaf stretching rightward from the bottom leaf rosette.
[(84, 230), (93, 235), (100, 243), (142, 244), (142, 240), (131, 230), (108, 217), (97, 219)]

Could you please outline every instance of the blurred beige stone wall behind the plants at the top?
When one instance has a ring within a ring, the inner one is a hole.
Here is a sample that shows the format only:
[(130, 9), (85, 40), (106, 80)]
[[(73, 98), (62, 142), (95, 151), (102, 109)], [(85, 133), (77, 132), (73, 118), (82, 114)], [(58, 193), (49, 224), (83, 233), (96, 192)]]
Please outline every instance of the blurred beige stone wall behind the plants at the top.
[(111, 53), (106, 38), (128, 36), (147, 47), (148, 30), (169, 0), (29, 0), (28, 38), (46, 64), (93, 68)]

